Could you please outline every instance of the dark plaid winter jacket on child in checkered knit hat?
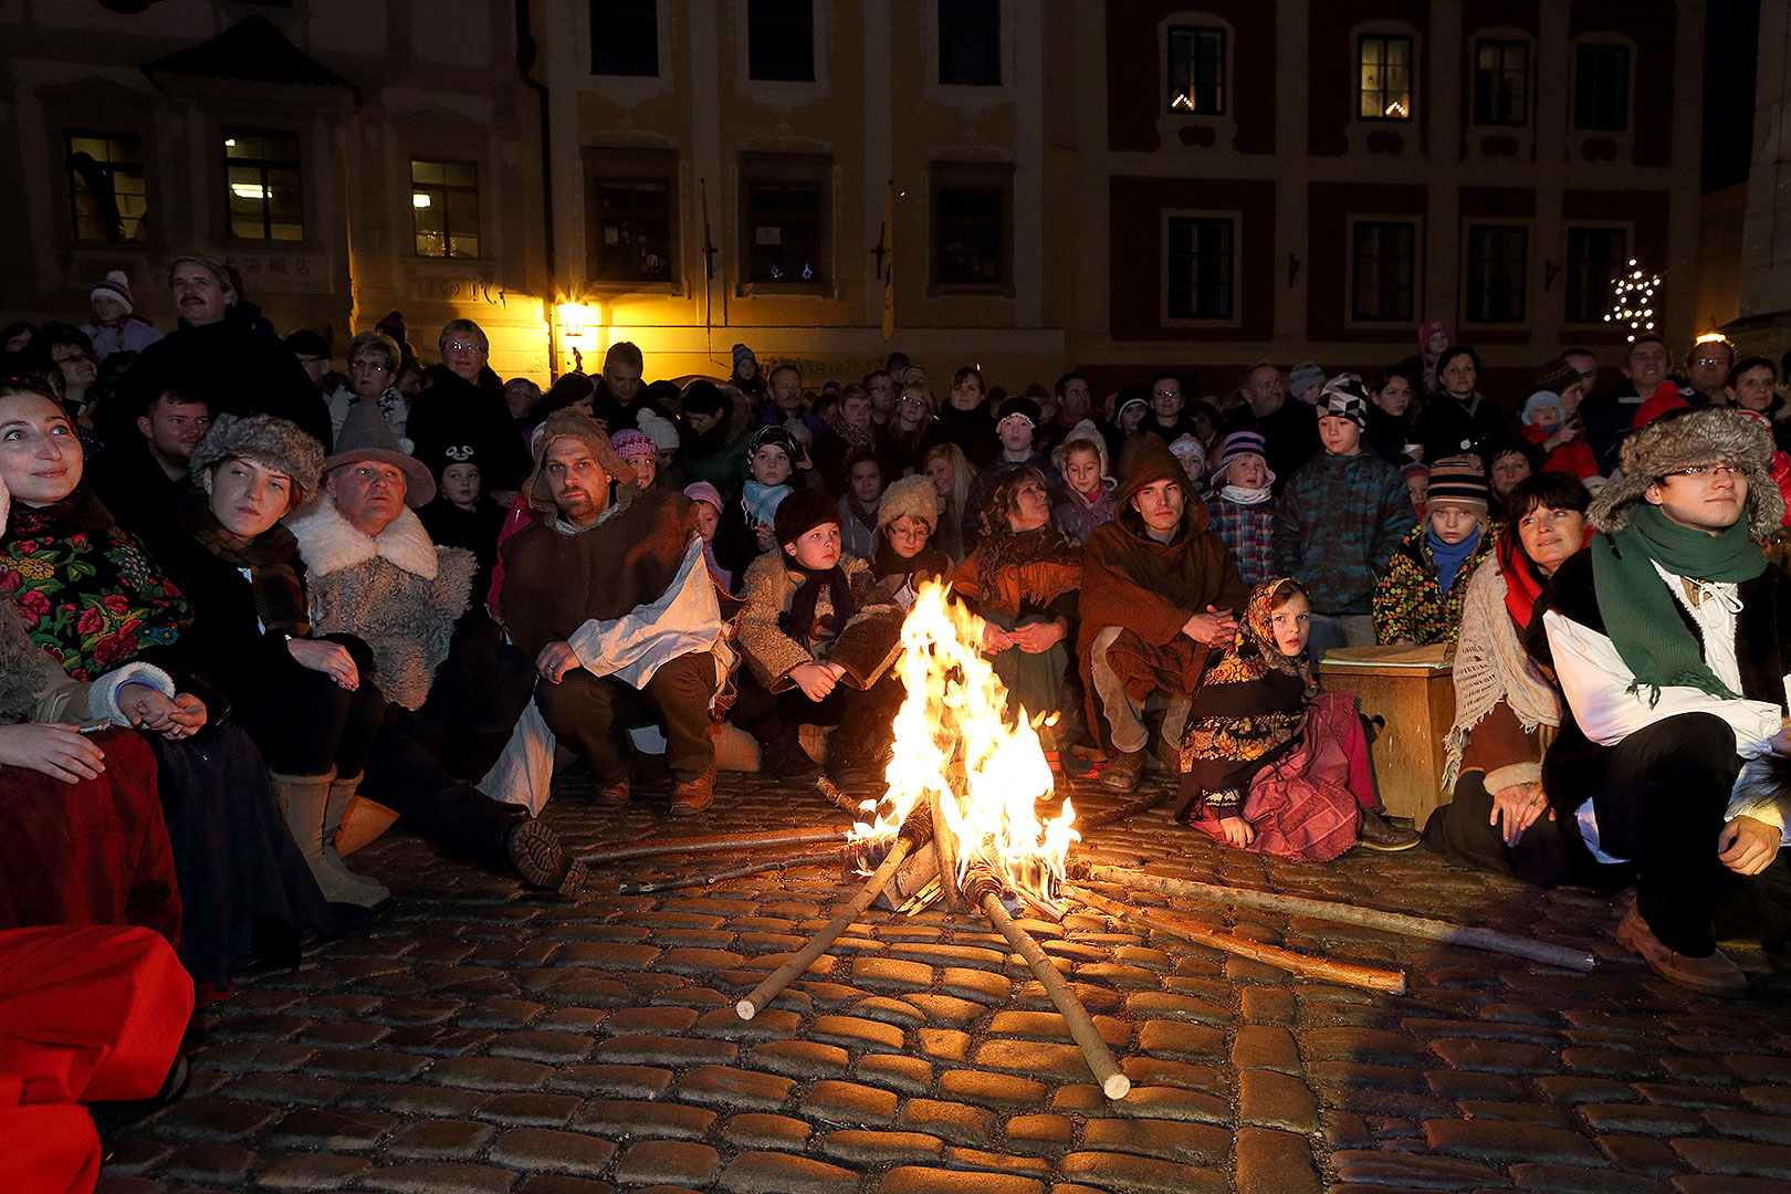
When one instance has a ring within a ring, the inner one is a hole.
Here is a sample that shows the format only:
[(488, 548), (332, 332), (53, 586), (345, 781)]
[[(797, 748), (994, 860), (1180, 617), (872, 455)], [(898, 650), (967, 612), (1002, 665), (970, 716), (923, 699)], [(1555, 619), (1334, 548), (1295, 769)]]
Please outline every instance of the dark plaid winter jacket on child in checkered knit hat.
[(1406, 480), (1372, 451), (1324, 453), (1275, 505), (1275, 573), (1295, 576), (1315, 614), (1368, 614), (1374, 585), (1411, 528)]

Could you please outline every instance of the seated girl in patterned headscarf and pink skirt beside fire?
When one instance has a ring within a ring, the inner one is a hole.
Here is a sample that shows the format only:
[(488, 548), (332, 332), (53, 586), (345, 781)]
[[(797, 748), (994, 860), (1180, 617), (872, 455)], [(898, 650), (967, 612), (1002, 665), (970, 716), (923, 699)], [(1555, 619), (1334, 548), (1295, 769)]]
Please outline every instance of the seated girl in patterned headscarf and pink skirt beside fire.
[(1418, 834), (1375, 811), (1368, 743), (1349, 693), (1320, 693), (1306, 661), (1300, 582), (1255, 587), (1225, 655), (1207, 668), (1182, 739), (1178, 820), (1214, 841), (1311, 863), (1358, 843), (1406, 850)]

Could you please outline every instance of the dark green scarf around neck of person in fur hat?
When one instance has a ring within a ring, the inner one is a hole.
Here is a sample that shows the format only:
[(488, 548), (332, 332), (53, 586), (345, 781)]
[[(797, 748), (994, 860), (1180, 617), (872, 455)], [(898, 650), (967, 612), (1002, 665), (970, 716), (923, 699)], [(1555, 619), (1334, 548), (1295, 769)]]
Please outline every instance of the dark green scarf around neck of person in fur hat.
[(1630, 525), (1615, 535), (1592, 535), (1592, 582), (1598, 612), (1617, 655), (1635, 673), (1628, 691), (1650, 691), (1650, 705), (1667, 686), (1712, 696), (1739, 696), (1703, 662), (1698, 637), (1680, 618), (1678, 600), (1660, 584), (1655, 562), (1675, 576), (1743, 582), (1766, 571), (1766, 555), (1737, 519), (1719, 535), (1680, 526), (1658, 507), (1637, 503)]

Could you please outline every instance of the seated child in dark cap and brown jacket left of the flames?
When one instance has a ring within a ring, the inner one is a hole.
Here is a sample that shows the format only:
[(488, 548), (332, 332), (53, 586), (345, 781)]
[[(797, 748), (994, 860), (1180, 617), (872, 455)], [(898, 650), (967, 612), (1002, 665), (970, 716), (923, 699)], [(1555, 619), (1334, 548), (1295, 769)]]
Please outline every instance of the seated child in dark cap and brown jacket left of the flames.
[(802, 725), (836, 725), (827, 772), (869, 779), (901, 704), (890, 671), (903, 610), (870, 564), (840, 546), (840, 512), (817, 489), (777, 507), (777, 553), (747, 569), (734, 644), (747, 661), (733, 720), (759, 741), (763, 770), (801, 779), (815, 770)]

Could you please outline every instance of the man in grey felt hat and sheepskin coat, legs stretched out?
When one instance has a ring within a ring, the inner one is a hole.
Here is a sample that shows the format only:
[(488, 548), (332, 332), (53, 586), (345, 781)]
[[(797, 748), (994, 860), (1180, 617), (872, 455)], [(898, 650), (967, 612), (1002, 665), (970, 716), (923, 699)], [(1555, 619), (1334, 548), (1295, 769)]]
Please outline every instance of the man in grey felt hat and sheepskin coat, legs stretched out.
[(398, 814), (451, 854), (570, 895), (584, 865), (544, 823), (473, 786), (510, 739), (534, 673), (471, 600), (473, 553), (423, 530), (414, 507), (433, 496), (435, 478), (398, 449), (380, 405), (358, 403), (324, 460), (324, 494), (287, 519), (312, 630), (365, 641), (371, 680), (394, 705), (364, 779), (378, 804), (330, 811), (347, 818), (337, 849), (365, 845)]

